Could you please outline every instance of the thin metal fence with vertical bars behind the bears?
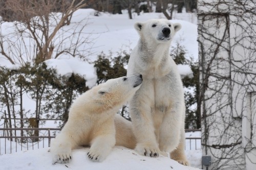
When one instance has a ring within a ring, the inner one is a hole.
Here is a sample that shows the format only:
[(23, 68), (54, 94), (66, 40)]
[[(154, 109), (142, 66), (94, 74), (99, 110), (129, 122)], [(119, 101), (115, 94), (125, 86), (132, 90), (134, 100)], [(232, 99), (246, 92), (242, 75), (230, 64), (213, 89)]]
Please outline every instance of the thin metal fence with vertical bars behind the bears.
[[(28, 151), (34, 149), (50, 147), (51, 139), (60, 128), (0, 128), (0, 155), (15, 153), (19, 151)], [(6, 136), (5, 134), (14, 134), (16, 136)], [(38, 131), (39, 136), (18, 136), (21, 131)], [(201, 132), (201, 130), (185, 130), (186, 132)], [(185, 150), (200, 150), (201, 137), (186, 137)]]

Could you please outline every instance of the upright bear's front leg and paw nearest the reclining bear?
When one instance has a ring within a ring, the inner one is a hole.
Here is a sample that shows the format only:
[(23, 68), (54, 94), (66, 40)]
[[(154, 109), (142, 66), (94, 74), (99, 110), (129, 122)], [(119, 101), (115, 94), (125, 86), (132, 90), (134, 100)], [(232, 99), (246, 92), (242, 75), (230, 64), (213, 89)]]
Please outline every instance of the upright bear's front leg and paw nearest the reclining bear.
[(151, 108), (148, 105), (140, 105), (136, 107), (137, 103), (130, 102), (130, 113), (134, 128), (134, 134), (137, 139), (135, 150), (144, 156), (158, 157), (159, 148), (155, 136), (154, 124), (151, 117)]

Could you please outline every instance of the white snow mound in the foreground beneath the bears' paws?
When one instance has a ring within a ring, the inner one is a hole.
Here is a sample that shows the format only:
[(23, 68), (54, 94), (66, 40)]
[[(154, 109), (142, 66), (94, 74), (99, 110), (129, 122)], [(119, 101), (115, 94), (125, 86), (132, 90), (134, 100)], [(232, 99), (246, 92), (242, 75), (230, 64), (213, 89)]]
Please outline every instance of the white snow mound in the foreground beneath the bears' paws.
[[(39, 149), (25, 151), (15, 154), (1, 156), (0, 169), (19, 169), (19, 170), (67, 170), (67, 169), (111, 169), (111, 170), (196, 170), (198, 168), (183, 166), (178, 162), (167, 157), (150, 158), (138, 155), (134, 150), (123, 147), (115, 147), (111, 154), (103, 162), (92, 162), (86, 157), (88, 148), (73, 151), (72, 161), (67, 164), (53, 164), (50, 149)], [(14, 163), (15, 162), (15, 163)]]

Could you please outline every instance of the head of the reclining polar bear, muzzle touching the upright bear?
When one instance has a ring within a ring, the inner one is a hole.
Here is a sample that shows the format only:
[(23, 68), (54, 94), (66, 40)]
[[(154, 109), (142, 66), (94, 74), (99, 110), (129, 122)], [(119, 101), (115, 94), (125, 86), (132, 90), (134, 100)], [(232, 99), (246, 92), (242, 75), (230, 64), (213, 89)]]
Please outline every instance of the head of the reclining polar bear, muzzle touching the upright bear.
[(98, 112), (102, 109), (106, 111), (108, 108), (120, 108), (132, 98), (141, 83), (142, 75), (110, 79), (91, 90), (91, 94), (88, 95), (90, 98), (88, 104), (93, 103)]

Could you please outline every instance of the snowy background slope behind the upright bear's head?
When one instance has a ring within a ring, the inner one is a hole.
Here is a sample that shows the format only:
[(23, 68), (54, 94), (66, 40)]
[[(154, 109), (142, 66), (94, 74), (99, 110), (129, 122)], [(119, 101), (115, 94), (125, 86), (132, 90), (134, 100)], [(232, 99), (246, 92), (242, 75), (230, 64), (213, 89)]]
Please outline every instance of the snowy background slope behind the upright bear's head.
[[(94, 16), (93, 9), (80, 9), (73, 15), (73, 21), (79, 21), (84, 16), (88, 16), (88, 33), (93, 33), (90, 38), (95, 38), (94, 47), (89, 59), (94, 60), (100, 52), (109, 53), (109, 51), (120, 52), (124, 50), (129, 52), (135, 47), (139, 40), (139, 35), (134, 29), (135, 22), (144, 22), (153, 18), (165, 18), (162, 13), (141, 13), (134, 14), (134, 19), (127, 19), (127, 14), (112, 15), (109, 13), (100, 13), (100, 16)], [(197, 18), (195, 14), (180, 13), (176, 14), (172, 22), (179, 22), (182, 29), (176, 34), (172, 41), (172, 46), (179, 41), (185, 46), (189, 55), (198, 59), (197, 43)], [(182, 19), (182, 20), (181, 20)]]

